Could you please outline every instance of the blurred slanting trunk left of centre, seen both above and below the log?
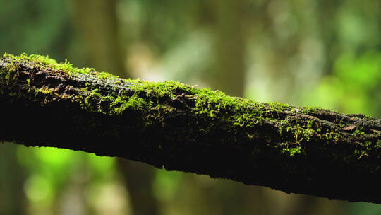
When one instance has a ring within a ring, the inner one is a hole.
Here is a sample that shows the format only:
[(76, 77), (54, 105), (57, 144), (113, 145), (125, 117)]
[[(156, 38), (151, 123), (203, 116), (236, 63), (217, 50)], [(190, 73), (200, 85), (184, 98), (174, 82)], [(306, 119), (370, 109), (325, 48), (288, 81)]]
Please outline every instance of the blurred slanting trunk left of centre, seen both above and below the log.
[[(74, 22), (87, 41), (90, 61), (99, 71), (127, 78), (123, 64), (125, 53), (119, 44), (116, 0), (73, 1)], [(158, 214), (157, 200), (152, 193), (155, 169), (149, 165), (117, 158), (118, 169), (131, 198), (134, 215)]]

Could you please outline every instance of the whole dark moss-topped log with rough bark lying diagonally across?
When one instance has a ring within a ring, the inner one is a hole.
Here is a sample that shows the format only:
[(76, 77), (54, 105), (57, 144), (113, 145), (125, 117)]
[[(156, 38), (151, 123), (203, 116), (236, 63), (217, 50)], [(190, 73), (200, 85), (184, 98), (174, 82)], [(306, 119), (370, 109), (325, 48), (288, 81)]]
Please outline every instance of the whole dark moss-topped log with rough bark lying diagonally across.
[(0, 59), (0, 141), (118, 156), (284, 192), (381, 203), (381, 120)]

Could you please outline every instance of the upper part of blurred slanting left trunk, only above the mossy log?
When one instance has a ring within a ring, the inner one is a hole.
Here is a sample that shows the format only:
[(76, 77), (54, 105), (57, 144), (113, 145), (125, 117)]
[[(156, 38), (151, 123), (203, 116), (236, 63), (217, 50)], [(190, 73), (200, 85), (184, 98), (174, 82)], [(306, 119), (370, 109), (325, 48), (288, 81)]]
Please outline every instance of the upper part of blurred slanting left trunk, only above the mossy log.
[(86, 42), (91, 63), (98, 71), (126, 78), (119, 43), (116, 0), (73, 0), (73, 23)]

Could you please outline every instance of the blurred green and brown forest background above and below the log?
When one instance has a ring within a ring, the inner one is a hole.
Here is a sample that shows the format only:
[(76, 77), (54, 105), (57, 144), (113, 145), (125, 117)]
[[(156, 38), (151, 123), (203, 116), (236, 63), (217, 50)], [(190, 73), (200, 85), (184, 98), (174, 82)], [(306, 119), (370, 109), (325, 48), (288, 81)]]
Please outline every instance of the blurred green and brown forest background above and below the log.
[[(381, 1), (0, 0), (0, 29), (1, 54), (381, 117)], [(4, 143), (0, 214), (337, 215), (381, 206)]]

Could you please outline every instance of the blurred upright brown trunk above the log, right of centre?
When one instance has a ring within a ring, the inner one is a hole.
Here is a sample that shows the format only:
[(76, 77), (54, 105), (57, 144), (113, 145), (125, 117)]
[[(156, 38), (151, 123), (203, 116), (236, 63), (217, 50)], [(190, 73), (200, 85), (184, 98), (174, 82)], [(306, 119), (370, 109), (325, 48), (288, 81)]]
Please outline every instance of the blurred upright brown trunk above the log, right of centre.
[(245, 76), (242, 1), (215, 1), (214, 69), (212, 85), (226, 95), (242, 96)]

